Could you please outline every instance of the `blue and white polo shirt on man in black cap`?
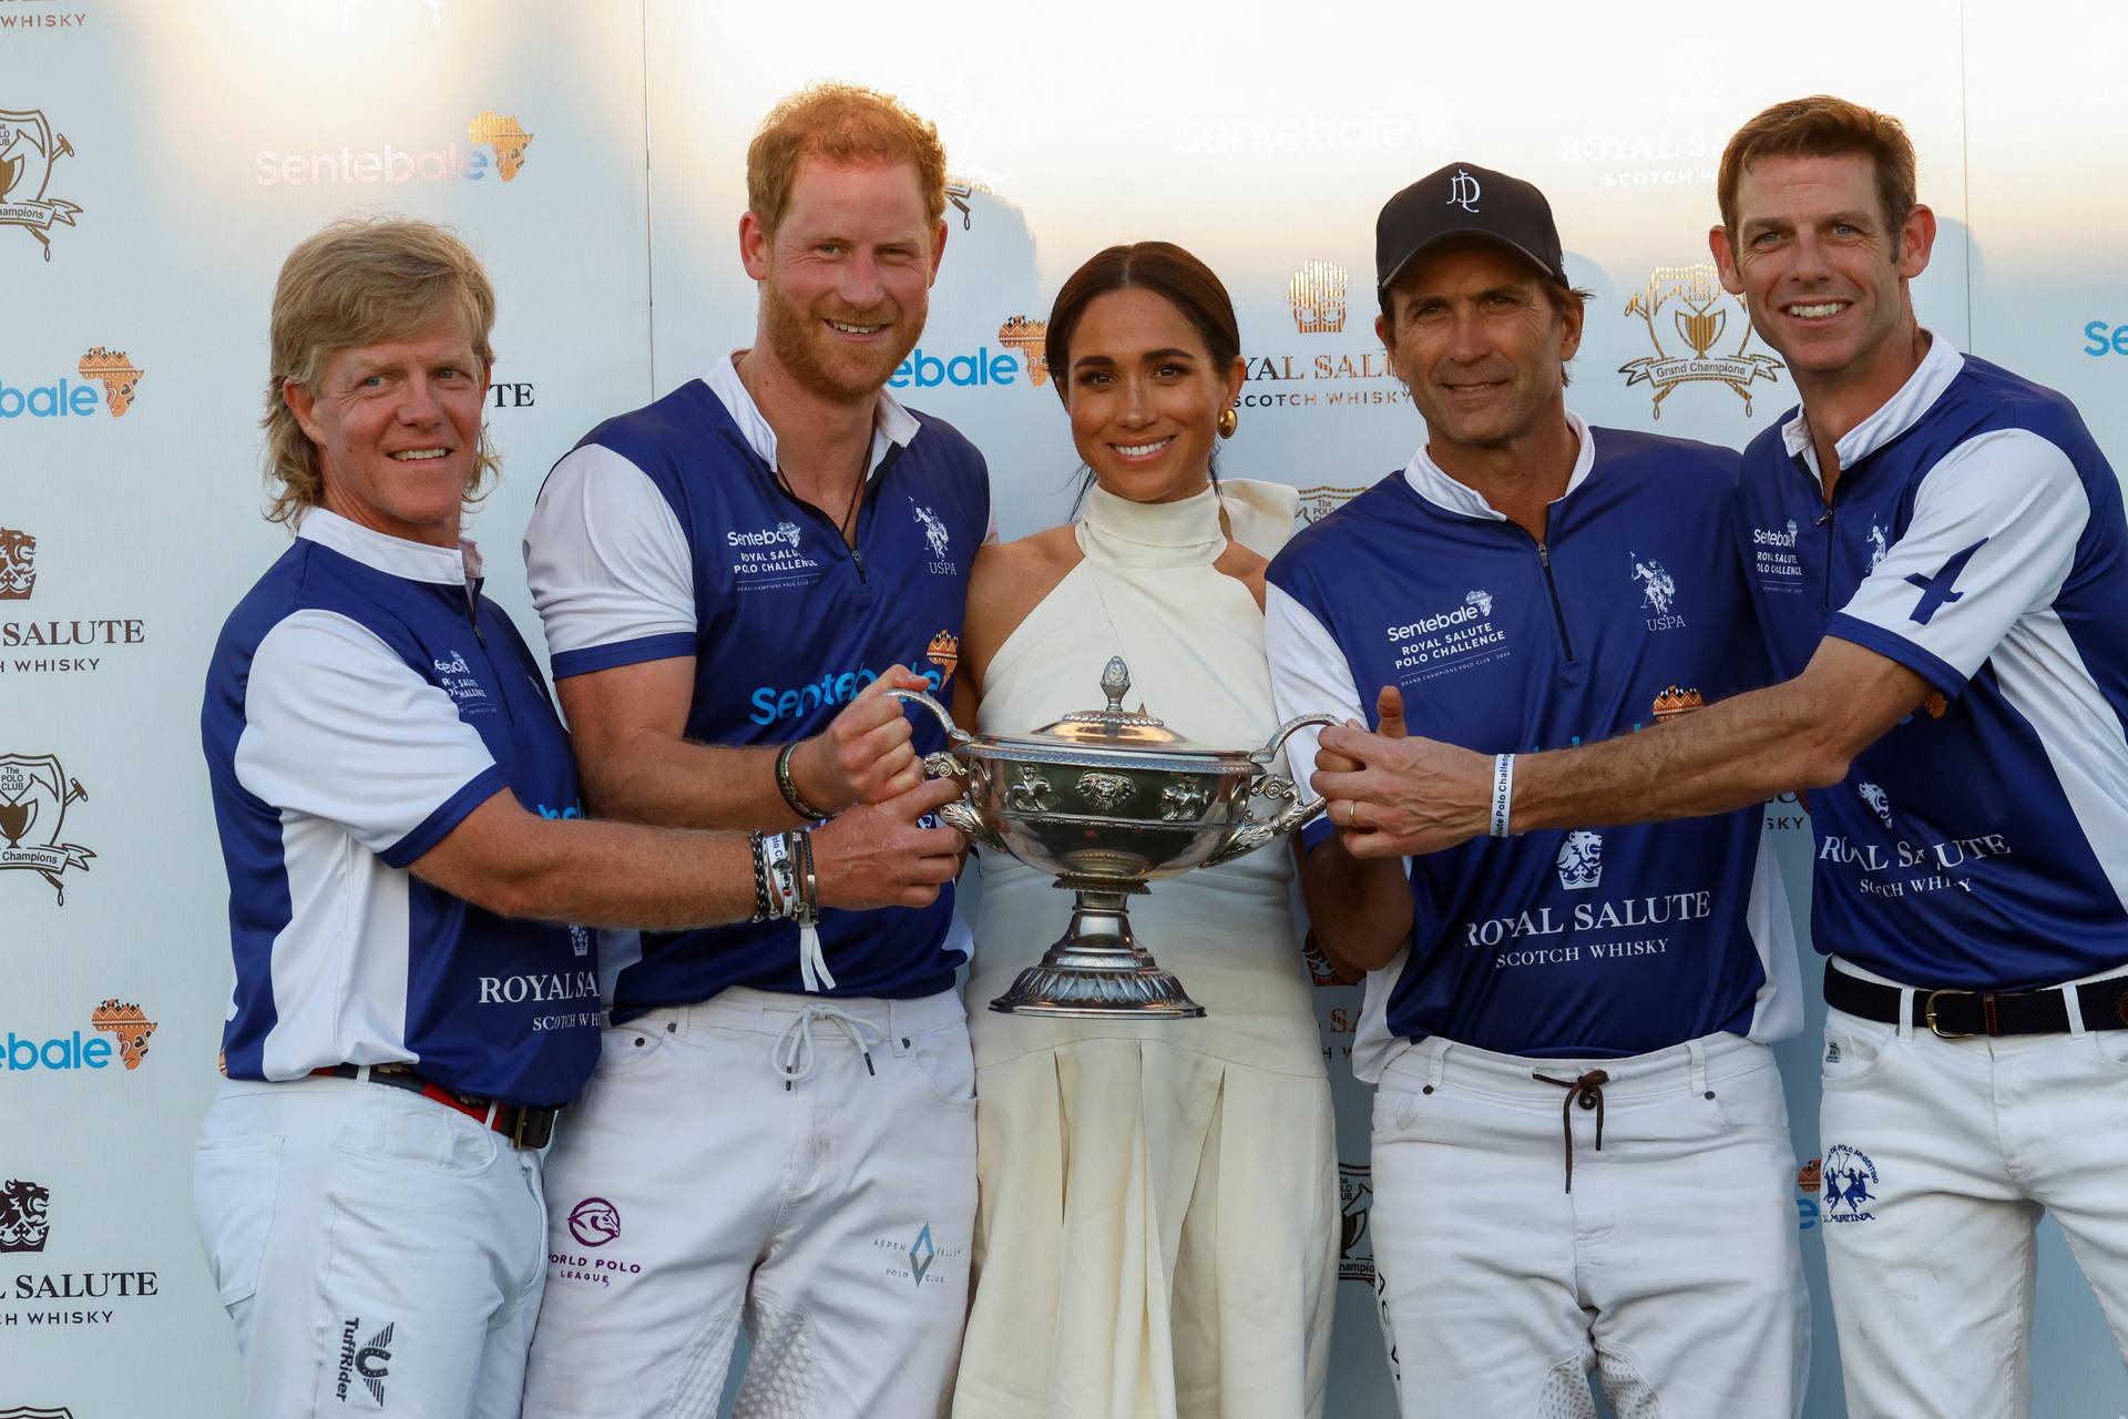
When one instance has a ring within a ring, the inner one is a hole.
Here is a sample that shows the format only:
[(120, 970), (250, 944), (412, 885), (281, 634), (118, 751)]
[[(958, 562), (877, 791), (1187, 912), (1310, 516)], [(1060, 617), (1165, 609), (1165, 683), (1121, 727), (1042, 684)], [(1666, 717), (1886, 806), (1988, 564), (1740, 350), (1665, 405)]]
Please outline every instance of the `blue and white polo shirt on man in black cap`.
[[(1764, 683), (1730, 540), (1736, 455), (1587, 428), (1545, 542), (1422, 447), (1270, 564), (1279, 715), (1530, 753), (1645, 730)], [(1364, 687), (1364, 689), (1362, 689)], [(1287, 740), (1300, 779), (1315, 734)], [(1304, 832), (1313, 849), (1332, 832)], [(1432, 1034), (1511, 1055), (1619, 1057), (1802, 1023), (1794, 930), (1758, 808), (1477, 838), (1409, 859), (1411, 945), (1368, 974), (1353, 1072)]]

